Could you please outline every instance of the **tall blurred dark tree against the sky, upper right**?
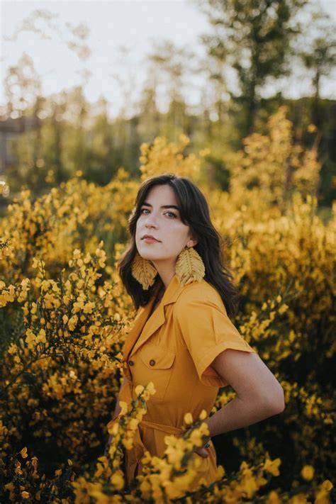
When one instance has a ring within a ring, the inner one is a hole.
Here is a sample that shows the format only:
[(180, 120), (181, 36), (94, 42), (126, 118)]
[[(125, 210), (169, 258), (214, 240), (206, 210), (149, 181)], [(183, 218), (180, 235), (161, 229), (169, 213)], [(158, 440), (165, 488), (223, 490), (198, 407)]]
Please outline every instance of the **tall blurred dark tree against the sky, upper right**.
[[(196, 0), (197, 1), (197, 0)], [(198, 0), (214, 33), (203, 35), (208, 55), (234, 69), (230, 90), (242, 108), (241, 138), (251, 133), (262, 88), (289, 73), (291, 40), (300, 27), (295, 16), (307, 0)]]

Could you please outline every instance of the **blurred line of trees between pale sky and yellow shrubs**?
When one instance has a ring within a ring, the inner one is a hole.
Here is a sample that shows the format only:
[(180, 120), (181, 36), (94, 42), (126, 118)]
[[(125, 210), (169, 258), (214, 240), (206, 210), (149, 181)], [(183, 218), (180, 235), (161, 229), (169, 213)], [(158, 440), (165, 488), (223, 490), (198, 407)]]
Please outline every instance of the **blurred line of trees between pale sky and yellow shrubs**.
[[(247, 135), (264, 133), (271, 113), (287, 105), (293, 141), (306, 147), (317, 144), (322, 164), (319, 201), (330, 206), (335, 198), (335, 100), (320, 96), (321, 79), (335, 71), (330, 17), (309, 0), (194, 3), (208, 18), (209, 31), (201, 35), (205, 55), (169, 40), (155, 43), (147, 55), (147, 78), (132, 106), (127, 92), (132, 82), (121, 80), (124, 103), (115, 118), (106, 97), (94, 104), (86, 101), (84, 84), (42, 96), (40, 77), (26, 53), (9, 68), (1, 119), (36, 120), (35, 128), (13, 142), (16, 163), (4, 174), (12, 192), (27, 184), (38, 193), (48, 182), (60, 183), (78, 169), (99, 184), (108, 183), (119, 167), (136, 174), (142, 142), (157, 136), (174, 141), (181, 133), (191, 139), (187, 150), (208, 148), (209, 184), (225, 190), (230, 179), (225, 157), (239, 150)], [(87, 31), (81, 36), (84, 43)], [(190, 84), (198, 74), (205, 77), (201, 100), (191, 106)], [(284, 82), (293, 86), (303, 79), (310, 80), (310, 94), (289, 98)]]

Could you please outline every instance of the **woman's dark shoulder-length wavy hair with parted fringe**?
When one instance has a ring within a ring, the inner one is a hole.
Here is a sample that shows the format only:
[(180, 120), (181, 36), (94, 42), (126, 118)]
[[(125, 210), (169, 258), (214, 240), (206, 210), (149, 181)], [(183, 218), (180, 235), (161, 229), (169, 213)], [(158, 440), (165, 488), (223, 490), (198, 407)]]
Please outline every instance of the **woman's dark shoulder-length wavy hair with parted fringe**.
[(211, 223), (208, 203), (200, 189), (190, 179), (178, 177), (172, 173), (150, 177), (142, 182), (135, 198), (135, 206), (128, 219), (130, 241), (118, 263), (118, 271), (126, 291), (133, 300), (135, 309), (138, 310), (140, 306), (145, 306), (164, 285), (157, 274), (154, 284), (145, 291), (133, 277), (131, 266), (135, 254), (138, 252), (135, 243), (135, 230), (142, 204), (146, 201), (147, 194), (152, 187), (165, 184), (172, 187), (177, 198), (181, 221), (189, 225), (192, 237), (197, 240), (194, 249), (203, 260), (206, 269), (204, 279), (218, 291), (228, 316), (233, 317), (237, 311), (240, 294), (233, 283), (230, 269), (225, 265), (223, 237)]

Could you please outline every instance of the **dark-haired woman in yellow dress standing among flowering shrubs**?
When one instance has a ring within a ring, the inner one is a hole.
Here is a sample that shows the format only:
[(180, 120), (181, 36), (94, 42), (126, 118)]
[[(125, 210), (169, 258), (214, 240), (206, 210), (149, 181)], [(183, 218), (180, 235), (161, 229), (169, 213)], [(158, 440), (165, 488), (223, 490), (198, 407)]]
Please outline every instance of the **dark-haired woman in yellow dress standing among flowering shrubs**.
[(218, 388), (230, 384), (237, 396), (206, 418), (210, 435), (195, 450), (201, 465), (194, 486), (201, 476), (210, 484), (216, 478), (211, 437), (281, 413), (284, 392), (230, 321), (238, 293), (198, 187), (174, 174), (145, 180), (129, 232), (119, 274), (140, 309), (123, 349), (115, 415), (119, 401), (135, 398), (137, 385), (152, 381), (156, 393), (126, 452), (126, 479), (130, 483), (142, 471), (145, 449), (162, 457), (164, 437), (181, 434), (185, 413), (197, 419), (204, 409), (209, 415)]

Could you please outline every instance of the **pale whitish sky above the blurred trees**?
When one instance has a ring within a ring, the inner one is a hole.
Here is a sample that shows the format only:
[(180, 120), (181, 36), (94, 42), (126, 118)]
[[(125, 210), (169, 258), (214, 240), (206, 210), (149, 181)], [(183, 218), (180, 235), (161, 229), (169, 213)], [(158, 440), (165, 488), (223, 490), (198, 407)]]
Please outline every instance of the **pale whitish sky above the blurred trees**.
[[(336, 21), (336, 0), (320, 0), (323, 9)], [(86, 99), (96, 101), (102, 94), (111, 102), (111, 116), (116, 116), (128, 96), (130, 105), (138, 99), (145, 79), (144, 58), (153, 41), (171, 40), (204, 55), (198, 41), (201, 33), (210, 32), (206, 16), (191, 0), (123, 0), (123, 1), (1, 1), (1, 89), (4, 104), (4, 75), (9, 66), (16, 65), (23, 52), (33, 58), (42, 79), (44, 95), (84, 84)], [(15, 36), (23, 19), (33, 11), (52, 13), (35, 23), (35, 33), (23, 31)], [(89, 28), (87, 45), (91, 55), (81, 61), (69, 47), (76, 38), (76, 28), (84, 23)], [(42, 28), (49, 39), (36, 32)], [(73, 29), (74, 34), (69, 35)], [(122, 53), (120, 47), (127, 49)], [(84, 77), (83, 70), (90, 75)], [(291, 79), (281, 84), (287, 96), (309, 93), (308, 79)], [(188, 82), (191, 105), (200, 101), (201, 77)], [(322, 82), (322, 95), (335, 98), (332, 79)]]

